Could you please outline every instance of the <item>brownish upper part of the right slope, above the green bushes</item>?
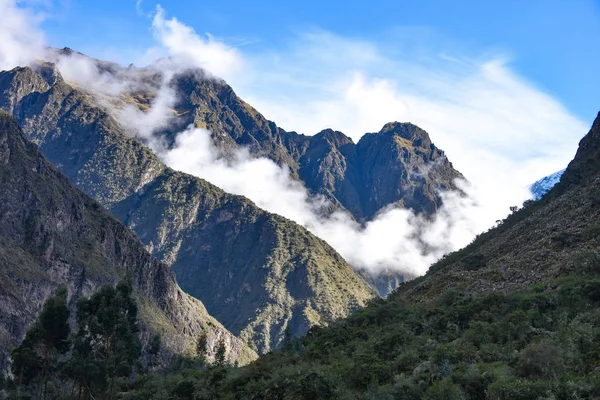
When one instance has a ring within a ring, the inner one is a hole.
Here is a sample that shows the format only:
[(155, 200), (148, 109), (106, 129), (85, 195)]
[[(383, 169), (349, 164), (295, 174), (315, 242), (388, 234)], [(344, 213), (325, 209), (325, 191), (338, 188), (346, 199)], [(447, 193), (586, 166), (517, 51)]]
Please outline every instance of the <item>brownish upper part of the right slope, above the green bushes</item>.
[(449, 289), (508, 291), (573, 271), (596, 257), (600, 225), (600, 118), (560, 182), (495, 229), (434, 264), (399, 295), (430, 299)]

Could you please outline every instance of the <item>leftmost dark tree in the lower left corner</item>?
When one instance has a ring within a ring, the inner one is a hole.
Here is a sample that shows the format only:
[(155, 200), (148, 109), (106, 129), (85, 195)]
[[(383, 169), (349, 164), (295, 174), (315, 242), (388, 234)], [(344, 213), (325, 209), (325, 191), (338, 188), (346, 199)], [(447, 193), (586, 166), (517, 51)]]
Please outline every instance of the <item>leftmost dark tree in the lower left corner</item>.
[(59, 357), (69, 351), (67, 289), (60, 288), (44, 303), (38, 320), (27, 331), (19, 347), (11, 352), (11, 370), (21, 385), (38, 381), (38, 397), (48, 395), (48, 381), (58, 371)]

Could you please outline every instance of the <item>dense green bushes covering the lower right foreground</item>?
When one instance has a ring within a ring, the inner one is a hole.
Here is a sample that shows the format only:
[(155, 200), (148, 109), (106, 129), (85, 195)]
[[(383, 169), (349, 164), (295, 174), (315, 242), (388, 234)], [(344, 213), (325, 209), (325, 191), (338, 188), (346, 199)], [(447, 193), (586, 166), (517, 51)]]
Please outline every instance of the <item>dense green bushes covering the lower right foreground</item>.
[[(595, 263), (591, 253), (583, 257), (580, 265)], [(160, 374), (113, 380), (115, 393), (194, 400), (597, 398), (600, 279), (594, 268), (585, 271), (517, 293), (449, 291), (421, 304), (393, 294), (243, 368), (208, 365), (200, 337), (197, 359), (177, 357)]]

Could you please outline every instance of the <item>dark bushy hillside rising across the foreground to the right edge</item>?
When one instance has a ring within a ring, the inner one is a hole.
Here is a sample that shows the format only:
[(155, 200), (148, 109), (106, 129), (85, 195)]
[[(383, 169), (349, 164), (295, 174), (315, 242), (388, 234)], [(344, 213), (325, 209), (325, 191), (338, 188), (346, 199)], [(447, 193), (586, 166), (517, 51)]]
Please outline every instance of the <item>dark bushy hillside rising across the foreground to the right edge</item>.
[[(140, 380), (223, 399), (600, 397), (600, 114), (561, 182), (423, 277), (282, 351)], [(152, 398), (149, 396), (149, 398)]]

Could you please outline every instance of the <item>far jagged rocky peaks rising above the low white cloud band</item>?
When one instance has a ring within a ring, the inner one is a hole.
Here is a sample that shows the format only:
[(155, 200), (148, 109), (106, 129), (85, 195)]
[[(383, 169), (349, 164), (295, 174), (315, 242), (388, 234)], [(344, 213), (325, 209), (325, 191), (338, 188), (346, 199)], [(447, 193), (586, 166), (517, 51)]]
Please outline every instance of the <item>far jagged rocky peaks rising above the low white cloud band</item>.
[(287, 132), (224, 81), (197, 71), (177, 75), (171, 87), (178, 95), (173, 112), (179, 117), (162, 132), (167, 142), (190, 124), (208, 129), (226, 151), (245, 147), (286, 165), (311, 193), (324, 195), (333, 209), (347, 210), (357, 221), (393, 204), (433, 214), (442, 202), (439, 191), (458, 190), (455, 180), (463, 178), (427, 132), (410, 123), (386, 124), (355, 144), (331, 129), (313, 136)]

